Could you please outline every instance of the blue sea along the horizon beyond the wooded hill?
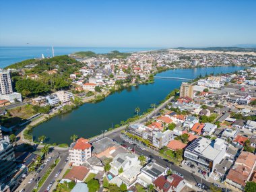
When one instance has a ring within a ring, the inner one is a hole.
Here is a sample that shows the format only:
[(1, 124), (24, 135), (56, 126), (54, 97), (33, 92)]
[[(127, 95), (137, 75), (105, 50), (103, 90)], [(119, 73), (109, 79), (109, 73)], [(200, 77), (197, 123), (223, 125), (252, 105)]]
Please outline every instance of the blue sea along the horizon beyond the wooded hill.
[[(121, 47), (54, 47), (56, 55), (68, 55), (77, 51), (94, 51), (95, 53), (110, 53), (110, 51), (136, 52), (156, 50), (157, 48), (121, 48)], [(159, 49), (159, 48), (158, 48)], [(0, 68), (26, 59), (52, 57), (51, 46), (0, 46)]]

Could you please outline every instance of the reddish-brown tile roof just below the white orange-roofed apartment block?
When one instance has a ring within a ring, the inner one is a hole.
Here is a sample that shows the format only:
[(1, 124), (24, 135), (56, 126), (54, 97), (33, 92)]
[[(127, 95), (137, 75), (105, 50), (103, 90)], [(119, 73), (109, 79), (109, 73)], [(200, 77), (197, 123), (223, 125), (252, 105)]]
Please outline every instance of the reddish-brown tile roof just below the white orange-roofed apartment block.
[(73, 168), (65, 175), (64, 179), (75, 181), (83, 181), (90, 170), (85, 166), (73, 166)]

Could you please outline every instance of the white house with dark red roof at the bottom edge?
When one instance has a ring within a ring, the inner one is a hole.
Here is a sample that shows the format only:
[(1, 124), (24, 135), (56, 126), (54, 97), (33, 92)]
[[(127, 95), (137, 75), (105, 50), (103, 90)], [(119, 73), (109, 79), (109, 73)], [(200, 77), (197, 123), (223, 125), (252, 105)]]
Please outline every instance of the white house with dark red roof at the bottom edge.
[(180, 192), (186, 186), (186, 181), (177, 174), (168, 176), (161, 175), (154, 182), (157, 191), (160, 192)]

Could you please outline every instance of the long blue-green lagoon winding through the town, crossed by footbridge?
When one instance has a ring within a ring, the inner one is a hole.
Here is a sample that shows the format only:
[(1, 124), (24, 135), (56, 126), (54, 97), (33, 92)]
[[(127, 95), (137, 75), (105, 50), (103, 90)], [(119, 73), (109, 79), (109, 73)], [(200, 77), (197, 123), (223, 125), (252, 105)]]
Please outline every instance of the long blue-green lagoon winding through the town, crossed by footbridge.
[[(199, 69), (175, 69), (158, 73), (158, 76), (195, 78), (205, 73), (229, 73), (244, 67), (215, 67)], [(141, 113), (150, 104), (160, 102), (174, 88), (181, 86), (180, 80), (155, 79), (154, 84), (133, 87), (108, 96), (104, 101), (96, 104), (86, 103), (71, 113), (58, 115), (49, 121), (38, 125), (33, 131), (34, 139), (46, 135), (47, 143), (70, 143), (73, 134), (89, 138), (101, 133), (113, 124), (135, 115), (135, 108), (139, 106)]]

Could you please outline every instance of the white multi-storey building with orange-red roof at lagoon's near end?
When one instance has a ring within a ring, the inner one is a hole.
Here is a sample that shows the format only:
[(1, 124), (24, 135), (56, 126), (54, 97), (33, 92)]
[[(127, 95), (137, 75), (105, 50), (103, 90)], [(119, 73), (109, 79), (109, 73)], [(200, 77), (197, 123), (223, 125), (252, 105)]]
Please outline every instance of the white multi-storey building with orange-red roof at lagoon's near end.
[(92, 156), (92, 146), (88, 139), (79, 138), (75, 143), (71, 144), (69, 150), (69, 162), (73, 166), (80, 166), (86, 162), (88, 158)]

